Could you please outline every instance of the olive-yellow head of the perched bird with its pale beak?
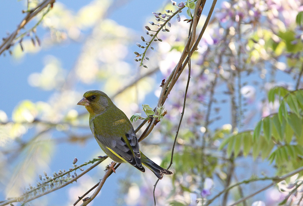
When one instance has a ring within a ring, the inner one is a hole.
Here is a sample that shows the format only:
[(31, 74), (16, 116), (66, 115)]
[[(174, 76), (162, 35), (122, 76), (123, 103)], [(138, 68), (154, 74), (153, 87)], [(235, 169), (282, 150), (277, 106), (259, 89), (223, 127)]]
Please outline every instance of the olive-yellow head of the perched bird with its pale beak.
[(91, 90), (85, 92), (82, 100), (77, 104), (83, 105), (90, 114), (100, 114), (112, 103), (112, 100), (102, 91)]

